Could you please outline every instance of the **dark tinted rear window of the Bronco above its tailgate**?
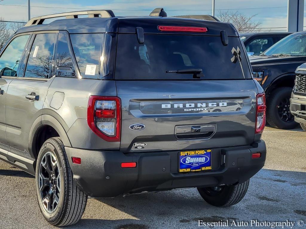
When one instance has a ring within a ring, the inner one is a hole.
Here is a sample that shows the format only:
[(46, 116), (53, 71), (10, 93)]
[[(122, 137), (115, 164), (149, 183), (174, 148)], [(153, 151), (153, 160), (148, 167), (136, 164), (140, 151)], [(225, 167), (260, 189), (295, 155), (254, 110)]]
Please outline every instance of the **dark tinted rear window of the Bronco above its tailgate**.
[[(192, 79), (192, 73), (173, 72), (186, 69), (202, 69), (201, 79), (251, 78), (239, 38), (228, 39), (224, 46), (219, 36), (150, 34), (144, 35), (144, 44), (139, 44), (135, 34), (119, 34), (115, 78)], [(232, 49), (237, 47), (241, 61), (236, 55), (233, 63)]]

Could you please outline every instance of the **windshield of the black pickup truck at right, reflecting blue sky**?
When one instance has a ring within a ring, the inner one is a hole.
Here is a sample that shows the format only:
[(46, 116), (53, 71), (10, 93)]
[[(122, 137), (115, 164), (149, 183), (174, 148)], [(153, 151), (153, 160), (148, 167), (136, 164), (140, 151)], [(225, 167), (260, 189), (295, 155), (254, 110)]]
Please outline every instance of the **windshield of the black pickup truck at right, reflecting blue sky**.
[(261, 55), (273, 56), (279, 54), (306, 56), (306, 34), (289, 35), (272, 45)]

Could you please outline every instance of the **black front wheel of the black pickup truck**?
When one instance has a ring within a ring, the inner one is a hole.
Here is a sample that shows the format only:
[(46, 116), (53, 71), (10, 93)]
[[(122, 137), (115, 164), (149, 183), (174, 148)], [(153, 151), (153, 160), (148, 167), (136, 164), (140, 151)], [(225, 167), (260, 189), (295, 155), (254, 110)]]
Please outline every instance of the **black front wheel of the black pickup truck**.
[(290, 113), (290, 96), (292, 88), (280, 87), (275, 89), (267, 104), (267, 122), (274, 128), (294, 129), (298, 123)]

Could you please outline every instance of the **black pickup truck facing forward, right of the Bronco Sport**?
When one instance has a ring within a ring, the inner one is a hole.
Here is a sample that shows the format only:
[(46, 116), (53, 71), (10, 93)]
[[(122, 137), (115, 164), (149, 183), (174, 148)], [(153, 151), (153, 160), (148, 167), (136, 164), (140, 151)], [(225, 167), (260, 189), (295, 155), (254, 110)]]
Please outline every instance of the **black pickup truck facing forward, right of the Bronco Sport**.
[(295, 70), (306, 62), (306, 32), (283, 38), (259, 56), (249, 56), (253, 77), (266, 93), (267, 122), (275, 128), (293, 129), (298, 123), (290, 113)]

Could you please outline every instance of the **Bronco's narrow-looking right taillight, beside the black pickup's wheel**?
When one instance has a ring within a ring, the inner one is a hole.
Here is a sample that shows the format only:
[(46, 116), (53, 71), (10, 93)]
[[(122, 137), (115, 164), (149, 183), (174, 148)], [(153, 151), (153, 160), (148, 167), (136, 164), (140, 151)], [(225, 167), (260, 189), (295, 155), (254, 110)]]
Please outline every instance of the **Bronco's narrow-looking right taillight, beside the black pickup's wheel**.
[(265, 93), (256, 96), (256, 130), (255, 133), (263, 133), (266, 125), (266, 95)]

